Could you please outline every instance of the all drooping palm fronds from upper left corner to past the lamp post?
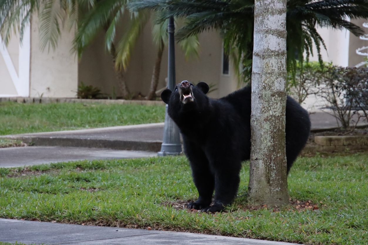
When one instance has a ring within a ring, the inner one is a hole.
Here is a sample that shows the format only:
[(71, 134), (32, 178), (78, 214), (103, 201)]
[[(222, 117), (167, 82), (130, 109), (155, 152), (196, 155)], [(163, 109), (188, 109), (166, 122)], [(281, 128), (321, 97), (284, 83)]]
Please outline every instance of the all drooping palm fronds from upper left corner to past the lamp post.
[[(69, 31), (75, 28), (73, 50), (80, 58), (86, 47), (103, 31), (105, 47), (112, 58), (121, 94), (124, 98), (128, 98), (131, 95), (124, 80), (124, 72), (135, 44), (151, 14), (148, 10), (131, 13), (126, 31), (119, 37), (118, 44), (115, 46), (117, 24), (126, 11), (126, 4), (127, 0), (0, 0), (0, 34), (5, 44), (15, 31), (19, 31), (20, 40), (22, 40), (24, 29), (29, 24), (31, 16), (37, 14), (40, 22), (41, 50), (46, 47), (48, 50), (50, 48), (55, 50), (60, 37), (60, 28), (66, 26)], [(153, 37), (158, 43), (159, 51), (148, 96), (150, 100), (155, 98), (162, 53), (167, 43), (165, 28), (162, 23), (153, 27)], [(181, 42), (181, 46), (186, 57), (191, 54), (198, 55), (199, 43), (196, 35)]]

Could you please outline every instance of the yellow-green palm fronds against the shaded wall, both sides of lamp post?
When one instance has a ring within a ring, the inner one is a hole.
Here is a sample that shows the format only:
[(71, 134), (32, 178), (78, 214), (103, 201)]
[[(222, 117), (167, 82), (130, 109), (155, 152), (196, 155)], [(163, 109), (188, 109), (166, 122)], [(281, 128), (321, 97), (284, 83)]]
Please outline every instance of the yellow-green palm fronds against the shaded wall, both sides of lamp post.
[[(125, 1), (123, 5), (117, 3), (116, 0), (99, 0), (96, 7), (93, 7), (85, 14), (84, 18), (78, 24), (78, 32), (74, 39), (74, 49), (81, 56), (85, 48), (93, 42), (100, 30), (105, 30), (106, 49), (112, 56), (118, 80), (123, 81), (123, 71), (127, 70), (130, 55), (145, 25), (151, 18), (151, 13), (148, 10), (132, 12), (133, 16), (128, 24), (127, 30), (118, 42), (117, 48), (115, 48), (113, 41), (116, 35), (116, 24), (123, 14), (126, 5)], [(168, 40), (167, 21), (153, 25), (152, 36), (158, 46), (158, 54), (155, 65), (153, 66), (151, 86), (146, 97), (147, 100), (153, 100), (156, 97), (155, 92), (159, 82), (162, 54), (164, 47), (167, 46)], [(197, 35), (192, 35), (190, 38), (179, 42), (179, 44), (183, 48), (187, 59), (191, 55), (198, 56), (199, 42)], [(120, 84), (121, 91), (125, 92), (124, 97), (128, 97), (129, 91), (125, 82), (121, 82)]]

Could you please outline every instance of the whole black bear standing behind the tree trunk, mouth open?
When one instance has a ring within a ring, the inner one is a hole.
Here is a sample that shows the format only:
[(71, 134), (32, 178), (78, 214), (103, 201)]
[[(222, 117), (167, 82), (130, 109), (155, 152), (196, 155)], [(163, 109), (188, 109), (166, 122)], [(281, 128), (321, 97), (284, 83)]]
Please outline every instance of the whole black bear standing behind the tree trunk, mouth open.
[[(179, 127), (184, 153), (190, 161), (199, 197), (188, 208), (204, 212), (224, 209), (237, 194), (241, 162), (250, 158), (251, 88), (245, 87), (220, 99), (206, 96), (209, 87), (183, 81), (174, 92), (166, 89), (162, 100)], [(311, 122), (296, 101), (286, 101), (287, 172), (307, 142)], [(210, 206), (213, 191), (215, 203)]]

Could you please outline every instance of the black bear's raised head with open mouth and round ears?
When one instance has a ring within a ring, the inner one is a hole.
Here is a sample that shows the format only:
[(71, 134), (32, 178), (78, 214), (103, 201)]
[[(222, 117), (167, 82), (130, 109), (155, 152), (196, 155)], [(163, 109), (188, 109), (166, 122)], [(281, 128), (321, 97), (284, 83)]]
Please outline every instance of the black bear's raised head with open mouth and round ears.
[(209, 99), (206, 96), (209, 87), (204, 82), (199, 82), (196, 86), (188, 81), (177, 84), (174, 91), (166, 89), (162, 91), (163, 102), (169, 105), (169, 115), (176, 120), (182, 120), (190, 113), (193, 118), (195, 112), (202, 113), (208, 109)]

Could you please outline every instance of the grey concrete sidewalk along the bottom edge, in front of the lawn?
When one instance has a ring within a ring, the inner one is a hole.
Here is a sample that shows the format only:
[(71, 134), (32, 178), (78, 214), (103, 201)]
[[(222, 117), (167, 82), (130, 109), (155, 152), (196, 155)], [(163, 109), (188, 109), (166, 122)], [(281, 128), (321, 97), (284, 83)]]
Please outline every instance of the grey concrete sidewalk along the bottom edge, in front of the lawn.
[(173, 231), (81, 226), (26, 220), (0, 219), (0, 241), (25, 244), (74, 245), (291, 245), (247, 238), (223, 237)]

